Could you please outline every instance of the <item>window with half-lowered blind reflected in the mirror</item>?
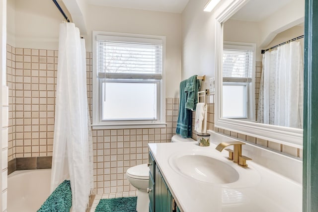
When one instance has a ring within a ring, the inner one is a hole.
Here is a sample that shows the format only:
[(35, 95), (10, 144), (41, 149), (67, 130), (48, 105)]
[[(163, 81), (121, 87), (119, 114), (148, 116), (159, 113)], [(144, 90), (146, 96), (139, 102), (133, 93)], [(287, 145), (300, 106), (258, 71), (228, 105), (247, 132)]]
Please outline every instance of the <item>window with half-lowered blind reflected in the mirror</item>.
[(255, 118), (255, 45), (226, 44), (223, 47), (222, 117), (253, 121)]

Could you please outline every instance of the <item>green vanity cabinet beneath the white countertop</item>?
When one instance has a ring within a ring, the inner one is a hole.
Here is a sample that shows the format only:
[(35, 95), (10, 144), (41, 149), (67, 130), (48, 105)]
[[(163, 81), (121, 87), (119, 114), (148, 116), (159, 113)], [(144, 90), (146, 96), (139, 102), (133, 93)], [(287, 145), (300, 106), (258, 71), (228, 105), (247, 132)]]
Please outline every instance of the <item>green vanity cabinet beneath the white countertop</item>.
[(180, 211), (165, 183), (161, 172), (149, 152), (149, 212), (177, 212)]

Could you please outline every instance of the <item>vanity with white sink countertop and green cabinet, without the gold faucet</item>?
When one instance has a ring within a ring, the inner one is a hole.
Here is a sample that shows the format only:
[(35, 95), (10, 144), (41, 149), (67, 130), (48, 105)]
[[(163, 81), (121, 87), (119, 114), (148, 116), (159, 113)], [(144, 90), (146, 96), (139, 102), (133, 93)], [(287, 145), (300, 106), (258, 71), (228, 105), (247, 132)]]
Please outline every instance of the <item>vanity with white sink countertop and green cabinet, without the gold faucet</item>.
[(208, 147), (149, 143), (150, 212), (301, 212), (302, 161), (246, 143), (243, 168), (215, 149), (233, 141), (211, 132)]

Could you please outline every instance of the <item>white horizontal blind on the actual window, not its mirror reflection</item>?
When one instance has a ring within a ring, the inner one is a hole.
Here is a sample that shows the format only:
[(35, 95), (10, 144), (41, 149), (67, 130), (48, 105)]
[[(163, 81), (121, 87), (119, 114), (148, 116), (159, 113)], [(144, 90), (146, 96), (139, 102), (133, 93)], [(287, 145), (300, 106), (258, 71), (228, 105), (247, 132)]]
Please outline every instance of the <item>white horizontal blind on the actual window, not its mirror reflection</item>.
[(161, 77), (162, 44), (98, 40), (97, 51), (99, 77)]

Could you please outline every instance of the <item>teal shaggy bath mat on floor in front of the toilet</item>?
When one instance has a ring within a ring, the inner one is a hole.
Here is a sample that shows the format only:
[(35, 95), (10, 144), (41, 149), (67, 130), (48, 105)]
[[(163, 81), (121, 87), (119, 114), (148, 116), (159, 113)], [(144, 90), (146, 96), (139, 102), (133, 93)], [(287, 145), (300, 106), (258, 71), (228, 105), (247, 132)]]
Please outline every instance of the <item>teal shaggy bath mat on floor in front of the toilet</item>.
[(95, 212), (136, 212), (137, 197), (101, 199)]

